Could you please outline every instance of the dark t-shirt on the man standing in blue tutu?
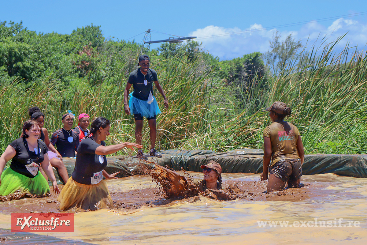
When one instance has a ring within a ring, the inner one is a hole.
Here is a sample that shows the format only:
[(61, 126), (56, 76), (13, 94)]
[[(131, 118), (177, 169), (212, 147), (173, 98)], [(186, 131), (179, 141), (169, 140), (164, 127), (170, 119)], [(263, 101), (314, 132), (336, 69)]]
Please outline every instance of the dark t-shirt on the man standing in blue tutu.
[[(147, 85), (144, 84), (144, 80), (147, 80)], [(128, 83), (134, 87), (132, 96), (139, 100), (148, 100), (149, 92), (153, 94), (153, 81), (158, 81), (157, 72), (153, 69), (148, 69), (148, 72), (144, 74), (140, 71), (140, 68), (132, 71), (129, 75)]]

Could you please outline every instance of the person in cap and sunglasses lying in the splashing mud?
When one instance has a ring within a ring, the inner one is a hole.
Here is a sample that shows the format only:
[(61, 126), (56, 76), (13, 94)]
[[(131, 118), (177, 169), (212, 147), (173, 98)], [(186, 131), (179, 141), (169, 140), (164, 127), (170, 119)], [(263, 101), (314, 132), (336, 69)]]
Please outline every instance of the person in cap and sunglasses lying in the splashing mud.
[[(190, 197), (206, 190), (222, 190), (222, 167), (217, 162), (209, 161), (207, 165), (201, 165), (204, 179), (192, 181), (166, 167), (155, 166), (156, 174), (153, 175), (153, 179), (162, 184), (167, 198)], [(165, 184), (165, 179), (169, 180), (168, 185)]]

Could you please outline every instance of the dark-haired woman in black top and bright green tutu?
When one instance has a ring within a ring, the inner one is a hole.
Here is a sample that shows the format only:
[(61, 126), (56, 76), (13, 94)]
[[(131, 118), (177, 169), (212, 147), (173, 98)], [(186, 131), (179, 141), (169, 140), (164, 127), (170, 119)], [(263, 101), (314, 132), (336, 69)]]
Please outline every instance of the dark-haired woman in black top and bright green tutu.
[[(23, 125), (21, 138), (8, 145), (0, 157), (0, 196), (16, 194), (17, 197), (47, 196), (50, 187), (39, 167), (42, 166), (51, 180), (55, 193), (60, 193), (54, 172), (48, 161), (46, 144), (39, 140), (40, 126), (34, 120)], [(11, 159), (10, 167), (3, 169)]]

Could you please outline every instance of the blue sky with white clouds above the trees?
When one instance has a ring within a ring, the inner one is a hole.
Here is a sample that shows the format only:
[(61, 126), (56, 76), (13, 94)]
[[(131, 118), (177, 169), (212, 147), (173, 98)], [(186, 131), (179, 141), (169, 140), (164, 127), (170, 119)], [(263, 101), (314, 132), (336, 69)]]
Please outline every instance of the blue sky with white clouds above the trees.
[[(283, 38), (292, 34), (303, 44), (307, 39), (309, 44), (314, 43), (318, 36), (327, 36), (331, 41), (347, 33), (340, 47), (349, 42), (351, 46), (363, 49), (367, 43), (366, 11), (367, 1), (360, 0), (14, 0), (1, 3), (0, 21), (23, 21), (23, 26), (29, 30), (61, 34), (70, 34), (77, 27), (93, 24), (101, 26), (106, 38), (135, 39), (138, 43), (142, 42), (148, 29), (153, 30), (151, 40), (167, 39), (167, 34), (197, 36), (197, 41), (202, 42), (206, 50), (227, 60), (255, 51), (266, 52), (269, 39), (276, 30)], [(365, 13), (356, 14), (361, 12)], [(330, 19), (321, 20), (324, 18)], [(302, 24), (289, 25), (298, 22)], [(238, 33), (212, 37), (232, 32)], [(152, 44), (151, 47), (159, 45)]]

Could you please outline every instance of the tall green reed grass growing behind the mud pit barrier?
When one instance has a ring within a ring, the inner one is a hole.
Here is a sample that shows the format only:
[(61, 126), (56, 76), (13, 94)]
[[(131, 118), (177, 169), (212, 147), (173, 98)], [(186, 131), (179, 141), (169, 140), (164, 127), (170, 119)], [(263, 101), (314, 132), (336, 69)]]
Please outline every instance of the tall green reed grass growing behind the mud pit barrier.
[[(216, 100), (226, 101), (221, 88), (212, 87), (215, 73), (200, 71), (197, 62), (182, 57), (155, 62), (159, 82), (166, 91), (170, 108), (157, 117), (157, 148), (159, 150), (212, 149), (227, 151), (236, 148), (261, 148), (262, 131), (270, 124), (264, 108), (273, 101), (290, 105), (288, 120), (301, 132), (306, 153), (363, 154), (367, 147), (367, 56), (346, 46), (334, 51), (340, 40), (324, 47), (305, 48), (283, 64), (276, 76), (252, 81), (243, 94), (244, 104), (227, 103), (213, 108)], [(61, 115), (71, 109), (76, 115), (87, 112), (92, 117), (104, 116), (112, 121), (108, 144), (135, 141), (134, 119), (124, 113), (123, 93), (130, 65), (119, 61), (119, 76), (91, 73), (90, 81), (80, 84), (70, 100), (61, 100), (57, 81), (44, 79), (30, 89), (18, 89), (15, 81), (0, 86), (1, 152), (19, 137), (29, 107), (38, 106), (46, 115), (45, 127), (59, 129)], [(113, 77), (113, 79), (112, 79)], [(219, 94), (219, 96), (218, 96)], [(160, 108), (163, 100), (155, 89)], [(244, 108), (238, 111), (237, 108)], [(149, 147), (149, 127), (143, 127), (143, 145)], [(131, 152), (118, 152), (127, 154)]]

